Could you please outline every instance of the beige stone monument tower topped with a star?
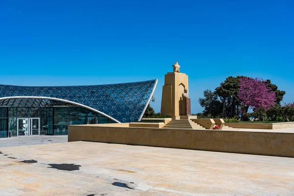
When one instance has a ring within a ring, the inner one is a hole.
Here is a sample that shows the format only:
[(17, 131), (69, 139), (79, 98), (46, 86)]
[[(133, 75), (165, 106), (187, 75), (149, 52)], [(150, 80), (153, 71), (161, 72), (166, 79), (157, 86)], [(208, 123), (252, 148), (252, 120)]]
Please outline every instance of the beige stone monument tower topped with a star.
[(188, 119), (191, 115), (188, 75), (180, 73), (178, 62), (175, 62), (172, 67), (173, 72), (165, 74), (160, 113), (172, 116), (172, 119)]

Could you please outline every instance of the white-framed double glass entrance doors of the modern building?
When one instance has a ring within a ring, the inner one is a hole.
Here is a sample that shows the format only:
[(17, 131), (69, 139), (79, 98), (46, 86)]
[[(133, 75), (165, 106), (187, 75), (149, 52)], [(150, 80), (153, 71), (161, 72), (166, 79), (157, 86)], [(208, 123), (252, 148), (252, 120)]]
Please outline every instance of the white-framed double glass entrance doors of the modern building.
[(40, 118), (17, 119), (17, 136), (40, 135)]

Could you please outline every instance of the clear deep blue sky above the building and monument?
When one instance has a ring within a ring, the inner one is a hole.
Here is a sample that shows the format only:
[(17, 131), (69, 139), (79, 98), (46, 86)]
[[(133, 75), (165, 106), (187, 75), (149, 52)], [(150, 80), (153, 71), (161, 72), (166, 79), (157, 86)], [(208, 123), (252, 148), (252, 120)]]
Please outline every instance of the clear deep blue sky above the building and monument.
[(157, 78), (178, 61), (198, 98), (227, 76), (270, 79), (294, 101), (293, 0), (0, 0), (0, 84)]

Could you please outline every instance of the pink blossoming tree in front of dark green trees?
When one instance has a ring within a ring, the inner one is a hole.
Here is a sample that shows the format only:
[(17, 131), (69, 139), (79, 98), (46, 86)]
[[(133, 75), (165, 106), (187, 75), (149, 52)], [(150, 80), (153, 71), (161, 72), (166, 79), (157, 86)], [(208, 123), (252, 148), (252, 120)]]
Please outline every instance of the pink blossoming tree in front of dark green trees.
[(261, 78), (240, 78), (239, 87), (238, 98), (244, 108), (242, 113), (247, 113), (248, 108), (253, 111), (259, 108), (270, 109), (276, 100), (275, 93)]

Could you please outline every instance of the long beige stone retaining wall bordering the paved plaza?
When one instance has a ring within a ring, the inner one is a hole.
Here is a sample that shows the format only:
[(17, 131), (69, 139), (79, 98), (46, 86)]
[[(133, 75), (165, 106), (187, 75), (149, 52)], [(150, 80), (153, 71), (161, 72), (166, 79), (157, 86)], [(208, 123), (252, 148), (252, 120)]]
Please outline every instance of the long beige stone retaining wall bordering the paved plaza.
[(294, 157), (293, 133), (69, 125), (68, 141)]

